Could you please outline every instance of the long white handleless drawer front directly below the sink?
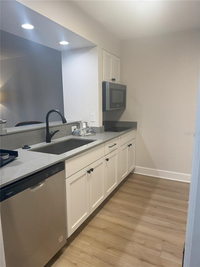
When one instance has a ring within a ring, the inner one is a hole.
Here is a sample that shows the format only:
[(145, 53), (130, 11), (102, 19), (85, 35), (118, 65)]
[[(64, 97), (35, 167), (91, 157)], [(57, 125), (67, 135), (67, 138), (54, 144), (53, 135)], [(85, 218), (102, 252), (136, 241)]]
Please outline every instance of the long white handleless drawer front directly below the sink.
[(105, 146), (102, 144), (77, 156), (67, 159), (65, 161), (66, 178), (82, 170), (84, 167), (90, 165), (101, 157), (104, 157), (104, 155)]

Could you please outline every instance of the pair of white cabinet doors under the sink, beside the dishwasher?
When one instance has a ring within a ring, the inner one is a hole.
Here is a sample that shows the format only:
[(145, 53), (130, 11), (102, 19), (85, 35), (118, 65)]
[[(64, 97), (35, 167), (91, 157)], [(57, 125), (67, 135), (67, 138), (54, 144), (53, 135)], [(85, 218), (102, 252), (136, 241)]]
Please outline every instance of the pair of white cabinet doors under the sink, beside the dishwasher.
[(105, 199), (105, 158), (93, 162), (65, 181), (69, 237)]

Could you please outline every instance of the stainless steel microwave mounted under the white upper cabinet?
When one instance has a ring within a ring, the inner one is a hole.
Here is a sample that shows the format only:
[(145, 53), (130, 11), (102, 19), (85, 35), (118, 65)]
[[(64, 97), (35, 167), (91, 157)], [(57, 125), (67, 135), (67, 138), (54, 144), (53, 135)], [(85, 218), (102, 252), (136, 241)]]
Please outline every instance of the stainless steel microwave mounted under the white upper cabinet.
[(103, 111), (126, 108), (126, 85), (102, 83)]

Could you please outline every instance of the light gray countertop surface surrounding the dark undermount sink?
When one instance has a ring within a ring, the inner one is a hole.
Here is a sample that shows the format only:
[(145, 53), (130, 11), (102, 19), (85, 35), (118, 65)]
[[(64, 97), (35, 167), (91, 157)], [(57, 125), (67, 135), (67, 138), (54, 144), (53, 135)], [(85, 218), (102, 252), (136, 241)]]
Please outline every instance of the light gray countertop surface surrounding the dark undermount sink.
[[(70, 136), (65, 136), (62, 138), (54, 139), (51, 141), (51, 144), (58, 142), (58, 141), (71, 139), (71, 138), (96, 140), (87, 145), (80, 146), (78, 148), (75, 148), (71, 151), (65, 152), (60, 155), (35, 152), (35, 151), (25, 150), (22, 148), (15, 149), (15, 151), (18, 151), (18, 157), (14, 159), (12, 162), (8, 163), (7, 165), (1, 167), (1, 174), (0, 174), (1, 185), (0, 186), (4, 187), (8, 184), (11, 184), (12, 182), (16, 182), (24, 177), (27, 177), (31, 174), (41, 171), (47, 167), (50, 167), (57, 162), (64, 161), (70, 157), (74, 157), (84, 151), (87, 151), (95, 146), (103, 144), (115, 137), (121, 136), (134, 129), (136, 128), (131, 128), (123, 132), (103, 132), (103, 133), (96, 134), (95, 136), (91, 136), (91, 137), (81, 137), (81, 136), (70, 135)], [(31, 149), (41, 147), (41, 146), (46, 146), (46, 145), (50, 145), (50, 144), (47, 144), (46, 142), (42, 142), (39, 144), (31, 145)]]

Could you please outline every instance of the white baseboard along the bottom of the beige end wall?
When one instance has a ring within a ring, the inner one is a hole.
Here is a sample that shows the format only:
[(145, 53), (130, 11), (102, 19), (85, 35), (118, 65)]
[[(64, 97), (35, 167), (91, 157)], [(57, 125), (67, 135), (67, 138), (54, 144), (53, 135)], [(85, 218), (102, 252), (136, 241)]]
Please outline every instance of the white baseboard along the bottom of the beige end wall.
[(136, 166), (133, 170), (133, 173), (137, 174), (143, 174), (147, 176), (153, 176), (168, 180), (175, 180), (180, 182), (190, 182), (191, 175), (187, 173), (181, 173), (181, 172), (168, 172), (163, 170), (157, 170), (157, 169), (151, 169), (151, 168), (145, 168), (145, 167), (139, 167)]

